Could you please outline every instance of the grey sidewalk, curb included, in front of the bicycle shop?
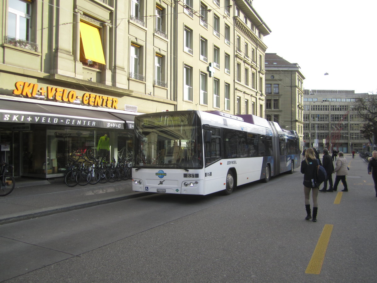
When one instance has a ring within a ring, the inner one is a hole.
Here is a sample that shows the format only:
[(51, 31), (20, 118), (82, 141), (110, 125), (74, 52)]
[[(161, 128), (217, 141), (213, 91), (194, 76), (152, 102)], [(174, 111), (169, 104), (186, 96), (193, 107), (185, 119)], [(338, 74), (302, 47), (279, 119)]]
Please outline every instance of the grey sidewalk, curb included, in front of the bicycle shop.
[(0, 197), (0, 225), (146, 194), (133, 192), (131, 180), (74, 187), (65, 185), (63, 178), (16, 181), (14, 190)]

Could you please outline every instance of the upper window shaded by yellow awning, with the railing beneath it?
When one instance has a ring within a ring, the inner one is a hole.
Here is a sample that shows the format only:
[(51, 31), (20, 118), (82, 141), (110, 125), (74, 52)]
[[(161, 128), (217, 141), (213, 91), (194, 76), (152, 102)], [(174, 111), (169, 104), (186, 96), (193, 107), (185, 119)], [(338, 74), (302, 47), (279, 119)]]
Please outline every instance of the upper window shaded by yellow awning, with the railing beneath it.
[(80, 62), (97, 69), (106, 64), (100, 30), (83, 22), (80, 22)]

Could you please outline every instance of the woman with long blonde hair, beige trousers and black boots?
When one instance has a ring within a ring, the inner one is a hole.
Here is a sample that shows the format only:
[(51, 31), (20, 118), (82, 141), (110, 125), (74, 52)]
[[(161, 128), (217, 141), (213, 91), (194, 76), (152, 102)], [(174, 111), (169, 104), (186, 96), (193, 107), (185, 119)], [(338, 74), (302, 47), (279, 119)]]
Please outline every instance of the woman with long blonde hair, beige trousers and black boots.
[(308, 148), (305, 152), (305, 159), (301, 161), (301, 173), (304, 174), (304, 196), (305, 196), (305, 209), (307, 212), (306, 220), (312, 218), (310, 210), (310, 191), (312, 192), (313, 198), (313, 222), (317, 222), (317, 211), (318, 211), (318, 191), (319, 188), (316, 186), (314, 181), (317, 165), (319, 160), (316, 159), (314, 155), (313, 148)]

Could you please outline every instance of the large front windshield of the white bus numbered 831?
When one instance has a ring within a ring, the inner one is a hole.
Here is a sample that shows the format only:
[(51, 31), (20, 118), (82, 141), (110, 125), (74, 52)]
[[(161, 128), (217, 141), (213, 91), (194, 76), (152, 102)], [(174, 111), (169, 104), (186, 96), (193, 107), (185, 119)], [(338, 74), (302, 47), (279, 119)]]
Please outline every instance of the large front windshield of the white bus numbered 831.
[(201, 122), (195, 112), (147, 114), (135, 118), (134, 167), (203, 167)]

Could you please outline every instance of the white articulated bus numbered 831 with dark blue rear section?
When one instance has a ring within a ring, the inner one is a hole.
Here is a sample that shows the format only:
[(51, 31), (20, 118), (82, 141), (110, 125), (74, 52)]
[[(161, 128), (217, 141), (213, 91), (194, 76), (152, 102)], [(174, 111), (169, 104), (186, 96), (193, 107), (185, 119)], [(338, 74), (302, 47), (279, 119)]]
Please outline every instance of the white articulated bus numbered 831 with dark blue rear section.
[(187, 110), (135, 117), (133, 191), (231, 194), (238, 185), (293, 173), (299, 162), (297, 133), (254, 115)]

